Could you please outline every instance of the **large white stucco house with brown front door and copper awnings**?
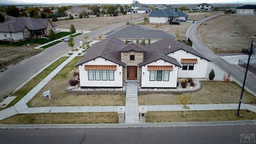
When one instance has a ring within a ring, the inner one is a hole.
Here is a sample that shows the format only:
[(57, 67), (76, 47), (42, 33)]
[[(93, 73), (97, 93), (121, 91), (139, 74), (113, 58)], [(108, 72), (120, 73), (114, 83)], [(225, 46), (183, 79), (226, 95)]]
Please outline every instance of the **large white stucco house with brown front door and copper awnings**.
[(122, 88), (129, 81), (141, 88), (177, 88), (178, 78), (206, 78), (208, 61), (172, 37), (145, 46), (112, 35), (92, 45), (76, 67), (80, 88)]

